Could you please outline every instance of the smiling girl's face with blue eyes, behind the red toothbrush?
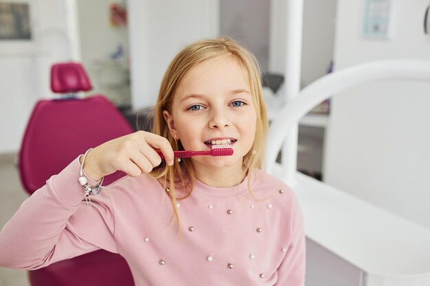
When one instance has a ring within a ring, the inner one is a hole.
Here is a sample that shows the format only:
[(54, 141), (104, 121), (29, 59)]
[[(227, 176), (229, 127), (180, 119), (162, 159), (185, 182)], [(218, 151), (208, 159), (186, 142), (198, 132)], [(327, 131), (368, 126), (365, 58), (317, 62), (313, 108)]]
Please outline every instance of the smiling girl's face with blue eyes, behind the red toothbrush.
[[(171, 114), (163, 111), (172, 136), (185, 150), (210, 150), (228, 143), (232, 156), (194, 156), (194, 167), (242, 169), (256, 134), (256, 110), (249, 82), (231, 56), (208, 59), (190, 69), (177, 87)], [(231, 170), (233, 170), (231, 169)]]

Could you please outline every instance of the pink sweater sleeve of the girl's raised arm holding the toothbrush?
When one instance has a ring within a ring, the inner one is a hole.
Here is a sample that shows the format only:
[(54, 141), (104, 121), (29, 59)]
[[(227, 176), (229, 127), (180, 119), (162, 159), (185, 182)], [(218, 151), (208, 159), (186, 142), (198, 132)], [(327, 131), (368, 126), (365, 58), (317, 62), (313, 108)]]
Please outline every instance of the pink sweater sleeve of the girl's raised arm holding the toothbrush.
[[(84, 200), (79, 159), (21, 204), (0, 232), (0, 266), (36, 270), (98, 249), (117, 253), (106, 190)], [(89, 179), (89, 184), (96, 182)]]

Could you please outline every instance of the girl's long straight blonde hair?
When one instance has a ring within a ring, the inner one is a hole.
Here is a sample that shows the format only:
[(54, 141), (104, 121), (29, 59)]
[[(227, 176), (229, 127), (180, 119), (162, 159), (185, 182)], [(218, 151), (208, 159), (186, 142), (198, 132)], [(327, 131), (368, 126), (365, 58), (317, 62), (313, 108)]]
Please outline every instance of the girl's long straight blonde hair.
[[(152, 133), (168, 139), (173, 150), (183, 150), (181, 142), (179, 141), (179, 143), (177, 143), (177, 141), (172, 138), (168, 125), (163, 117), (163, 110), (172, 112), (174, 94), (185, 74), (204, 60), (217, 56), (232, 56), (238, 60), (249, 82), (251, 95), (253, 95), (253, 105), (256, 108), (257, 114), (256, 134), (251, 150), (243, 157), (242, 163), (245, 174), (250, 174), (249, 171), (252, 171), (254, 168), (261, 169), (262, 167), (264, 145), (266, 143), (269, 125), (266, 107), (262, 97), (261, 73), (258, 62), (250, 51), (229, 37), (224, 36), (196, 41), (182, 49), (177, 56), (174, 57), (161, 82), (157, 104), (155, 105), (152, 115), (154, 120)], [(187, 178), (184, 178), (184, 172), (187, 174)], [(178, 163), (177, 160), (175, 160), (173, 166), (168, 166), (163, 160), (161, 165), (150, 172), (150, 175), (155, 179), (164, 180), (164, 186), (166, 186), (166, 181), (169, 180), (170, 189), (165, 190), (172, 200), (174, 215), (177, 217), (179, 230), (180, 220), (177, 213), (177, 200), (181, 200), (190, 195), (196, 179), (190, 158), (183, 158), (182, 163)], [(250, 190), (251, 176), (248, 176), (247, 185)], [(177, 198), (177, 190), (179, 189), (183, 195)]]

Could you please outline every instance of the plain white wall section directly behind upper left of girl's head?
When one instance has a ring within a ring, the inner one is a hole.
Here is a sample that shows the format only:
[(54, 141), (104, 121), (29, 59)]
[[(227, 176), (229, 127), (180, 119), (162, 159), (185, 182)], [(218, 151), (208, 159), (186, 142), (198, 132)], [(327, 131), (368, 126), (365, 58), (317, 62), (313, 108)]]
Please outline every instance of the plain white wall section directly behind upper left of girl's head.
[(219, 33), (216, 0), (128, 0), (132, 104), (155, 104), (168, 64), (180, 49)]

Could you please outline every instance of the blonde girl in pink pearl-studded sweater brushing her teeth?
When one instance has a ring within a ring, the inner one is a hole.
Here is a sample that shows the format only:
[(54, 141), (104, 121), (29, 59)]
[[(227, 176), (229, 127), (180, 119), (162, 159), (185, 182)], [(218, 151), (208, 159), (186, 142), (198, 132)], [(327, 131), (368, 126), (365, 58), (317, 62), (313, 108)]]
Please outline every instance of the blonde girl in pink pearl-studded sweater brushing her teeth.
[[(266, 133), (252, 54), (231, 38), (193, 43), (164, 75), (152, 133), (99, 145), (47, 180), (1, 231), (0, 265), (35, 270), (103, 248), (139, 286), (304, 285), (302, 215), (260, 170)], [(174, 159), (221, 144), (234, 154)], [(116, 170), (128, 176), (88, 195)]]

